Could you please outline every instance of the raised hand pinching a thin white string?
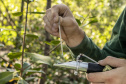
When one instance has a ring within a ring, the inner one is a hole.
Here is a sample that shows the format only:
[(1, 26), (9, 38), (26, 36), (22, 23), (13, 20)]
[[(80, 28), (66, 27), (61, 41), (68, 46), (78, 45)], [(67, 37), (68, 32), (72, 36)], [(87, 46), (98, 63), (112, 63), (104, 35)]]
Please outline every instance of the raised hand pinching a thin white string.
[(46, 11), (46, 15), (43, 17), (45, 30), (59, 37), (59, 17), (62, 39), (70, 47), (79, 45), (84, 38), (84, 32), (79, 28), (71, 11), (64, 4), (55, 5)]

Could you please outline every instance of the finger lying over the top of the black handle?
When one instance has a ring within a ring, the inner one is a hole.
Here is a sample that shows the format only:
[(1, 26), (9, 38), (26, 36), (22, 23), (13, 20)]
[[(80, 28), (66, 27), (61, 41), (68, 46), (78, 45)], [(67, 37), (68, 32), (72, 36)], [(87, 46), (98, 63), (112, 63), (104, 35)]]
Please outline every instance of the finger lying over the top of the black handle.
[(99, 61), (99, 64), (103, 66), (121, 67), (126, 65), (126, 60), (108, 56), (104, 60)]

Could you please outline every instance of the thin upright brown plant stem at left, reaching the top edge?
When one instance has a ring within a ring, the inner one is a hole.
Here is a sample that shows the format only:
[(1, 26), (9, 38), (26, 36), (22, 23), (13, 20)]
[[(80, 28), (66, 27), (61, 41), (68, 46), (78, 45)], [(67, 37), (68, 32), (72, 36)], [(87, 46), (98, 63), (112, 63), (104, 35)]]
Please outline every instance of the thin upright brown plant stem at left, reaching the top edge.
[(25, 27), (24, 27), (23, 43), (22, 43), (22, 62), (21, 62), (22, 68), (21, 68), (21, 77), (22, 77), (22, 73), (23, 73), (23, 59), (24, 59), (24, 47), (25, 47), (25, 35), (26, 35), (26, 29), (27, 29), (28, 1), (29, 0), (27, 0), (26, 20), (25, 20)]

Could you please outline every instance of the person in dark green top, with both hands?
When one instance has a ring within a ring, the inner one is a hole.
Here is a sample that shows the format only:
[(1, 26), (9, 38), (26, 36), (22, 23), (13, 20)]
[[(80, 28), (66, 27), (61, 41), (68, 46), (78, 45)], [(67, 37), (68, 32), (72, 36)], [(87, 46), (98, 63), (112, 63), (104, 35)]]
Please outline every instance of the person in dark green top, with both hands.
[[(46, 11), (43, 17), (45, 30), (53, 36), (59, 37), (58, 22), (60, 20), (62, 39), (77, 56), (84, 53), (99, 61), (100, 65), (116, 67), (110, 71), (87, 74), (91, 84), (126, 84), (126, 8), (117, 20), (112, 37), (99, 49), (79, 28), (70, 9), (64, 5), (55, 5)], [(113, 57), (112, 57), (113, 56)]]

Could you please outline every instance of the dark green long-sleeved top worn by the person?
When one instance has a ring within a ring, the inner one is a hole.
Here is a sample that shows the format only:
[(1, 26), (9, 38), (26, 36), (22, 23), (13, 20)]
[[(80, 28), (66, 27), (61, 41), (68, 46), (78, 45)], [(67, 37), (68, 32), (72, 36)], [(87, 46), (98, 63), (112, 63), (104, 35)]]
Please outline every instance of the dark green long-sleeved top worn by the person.
[(110, 41), (105, 44), (103, 49), (99, 49), (86, 35), (77, 47), (70, 49), (75, 56), (84, 53), (96, 61), (107, 56), (126, 58), (126, 7), (112, 30)]

